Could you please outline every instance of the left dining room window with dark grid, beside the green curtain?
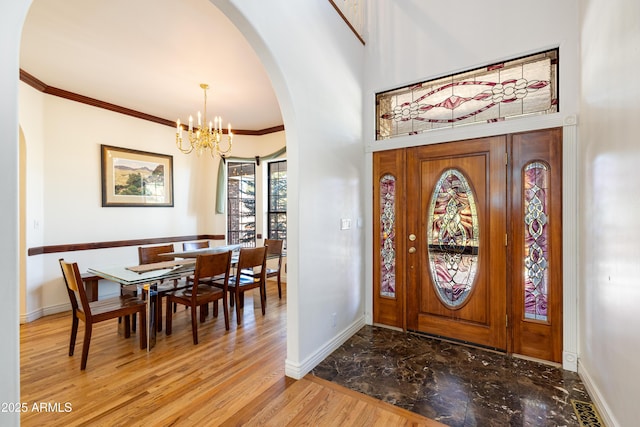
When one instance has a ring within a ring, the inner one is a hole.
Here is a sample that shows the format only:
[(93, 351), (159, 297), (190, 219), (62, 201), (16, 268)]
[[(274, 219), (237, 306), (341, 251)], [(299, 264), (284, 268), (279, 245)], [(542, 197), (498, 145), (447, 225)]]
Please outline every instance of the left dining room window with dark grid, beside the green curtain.
[(227, 163), (227, 243), (256, 246), (256, 165)]

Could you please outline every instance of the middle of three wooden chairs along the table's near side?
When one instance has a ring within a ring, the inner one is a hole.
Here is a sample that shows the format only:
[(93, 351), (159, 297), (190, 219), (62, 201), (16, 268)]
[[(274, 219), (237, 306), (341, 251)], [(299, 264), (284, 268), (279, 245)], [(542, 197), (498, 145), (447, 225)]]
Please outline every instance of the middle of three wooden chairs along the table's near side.
[[(241, 248), (236, 265), (236, 274), (229, 279), (229, 297), (231, 302), (235, 302), (236, 318), (238, 325), (242, 323), (242, 310), (244, 309), (244, 293), (250, 289), (260, 289), (260, 306), (262, 315), (265, 314), (267, 305), (266, 289), (266, 264), (267, 248)], [(252, 270), (252, 275), (244, 274), (243, 271)], [(220, 286), (219, 281), (213, 281), (214, 286)]]

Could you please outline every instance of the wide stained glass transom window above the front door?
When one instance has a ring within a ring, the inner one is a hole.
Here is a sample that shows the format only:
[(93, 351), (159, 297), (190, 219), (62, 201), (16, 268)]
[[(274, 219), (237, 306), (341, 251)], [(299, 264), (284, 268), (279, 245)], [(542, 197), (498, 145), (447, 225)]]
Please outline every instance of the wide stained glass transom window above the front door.
[(376, 139), (558, 111), (558, 50), (376, 94)]

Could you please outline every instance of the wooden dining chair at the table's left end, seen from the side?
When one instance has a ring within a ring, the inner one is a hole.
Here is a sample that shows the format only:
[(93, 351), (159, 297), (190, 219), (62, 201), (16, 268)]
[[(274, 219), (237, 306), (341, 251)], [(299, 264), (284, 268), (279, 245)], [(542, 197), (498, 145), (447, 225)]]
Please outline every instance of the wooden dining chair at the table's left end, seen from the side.
[[(60, 258), (60, 268), (62, 277), (67, 286), (67, 293), (71, 302), (72, 323), (71, 340), (69, 341), (69, 356), (73, 356), (78, 334), (78, 321), (85, 323), (84, 340), (82, 344), (82, 358), (80, 360), (80, 370), (87, 367), (89, 357), (89, 344), (91, 343), (91, 332), (93, 325), (105, 320), (124, 317), (124, 336), (131, 336), (131, 315), (139, 315), (139, 335), (140, 348), (147, 348), (147, 305), (135, 296), (121, 295), (119, 297), (101, 299), (89, 302), (85, 292), (82, 276), (77, 263), (68, 263)], [(78, 302), (78, 299), (80, 300)]]

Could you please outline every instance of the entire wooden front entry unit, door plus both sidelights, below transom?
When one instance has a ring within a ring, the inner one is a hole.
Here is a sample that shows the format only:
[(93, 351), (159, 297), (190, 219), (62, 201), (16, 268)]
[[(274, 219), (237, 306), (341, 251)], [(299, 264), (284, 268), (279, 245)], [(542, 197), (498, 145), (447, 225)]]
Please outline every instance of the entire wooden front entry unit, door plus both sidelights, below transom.
[(562, 130), (374, 153), (374, 322), (559, 362)]

